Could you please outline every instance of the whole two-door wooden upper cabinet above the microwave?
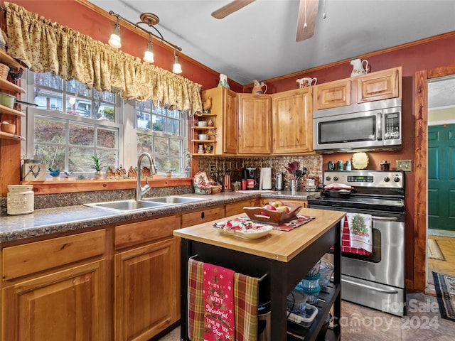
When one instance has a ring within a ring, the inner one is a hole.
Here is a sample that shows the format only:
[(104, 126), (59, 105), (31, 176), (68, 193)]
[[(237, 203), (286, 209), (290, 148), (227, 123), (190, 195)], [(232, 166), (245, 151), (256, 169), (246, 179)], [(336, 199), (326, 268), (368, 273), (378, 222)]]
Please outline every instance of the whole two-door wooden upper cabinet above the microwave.
[(402, 68), (368, 73), (314, 87), (314, 110), (402, 97)]

